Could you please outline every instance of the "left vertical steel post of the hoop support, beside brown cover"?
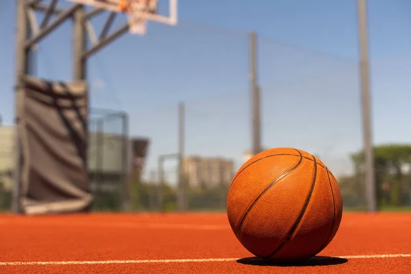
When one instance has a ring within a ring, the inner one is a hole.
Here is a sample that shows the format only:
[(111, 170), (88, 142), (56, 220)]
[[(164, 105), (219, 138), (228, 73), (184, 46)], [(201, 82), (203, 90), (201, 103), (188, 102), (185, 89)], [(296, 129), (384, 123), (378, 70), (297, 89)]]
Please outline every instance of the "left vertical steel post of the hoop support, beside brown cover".
[(12, 199), (12, 211), (14, 213), (22, 213), (21, 207), (21, 195), (22, 195), (22, 170), (21, 165), (24, 162), (23, 147), (21, 146), (21, 127), (24, 125), (21, 123), (21, 114), (23, 112), (24, 103), (24, 87), (21, 77), (29, 73), (29, 52), (30, 49), (25, 47), (25, 40), (29, 38), (29, 21), (26, 16), (27, 0), (17, 1), (17, 22), (16, 22), (16, 72), (14, 79), (14, 92), (15, 92), (15, 162), (14, 162), (14, 188)]

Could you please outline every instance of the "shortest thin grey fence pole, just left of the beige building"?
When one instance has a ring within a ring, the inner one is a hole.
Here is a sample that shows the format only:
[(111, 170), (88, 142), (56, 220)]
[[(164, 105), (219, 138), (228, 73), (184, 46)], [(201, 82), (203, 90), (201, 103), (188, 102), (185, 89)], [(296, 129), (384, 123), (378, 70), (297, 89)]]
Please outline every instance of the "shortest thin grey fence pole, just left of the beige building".
[(179, 134), (178, 134), (178, 194), (177, 194), (177, 208), (179, 212), (184, 212), (185, 203), (185, 182), (184, 182), (184, 171), (183, 171), (183, 158), (184, 158), (184, 103), (179, 103), (178, 105), (178, 121), (179, 121)]

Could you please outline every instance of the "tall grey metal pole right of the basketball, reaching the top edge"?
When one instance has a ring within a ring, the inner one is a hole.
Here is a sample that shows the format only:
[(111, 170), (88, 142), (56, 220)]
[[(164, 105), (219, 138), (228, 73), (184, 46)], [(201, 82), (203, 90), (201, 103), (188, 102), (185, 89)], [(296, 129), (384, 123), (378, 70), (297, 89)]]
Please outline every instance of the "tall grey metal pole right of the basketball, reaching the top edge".
[(371, 91), (369, 79), (369, 53), (367, 34), (366, 0), (358, 0), (358, 29), (360, 40), (360, 81), (362, 98), (362, 127), (365, 160), (365, 196), (367, 210), (377, 211), (375, 191), (375, 171), (373, 155), (373, 136), (371, 129)]

